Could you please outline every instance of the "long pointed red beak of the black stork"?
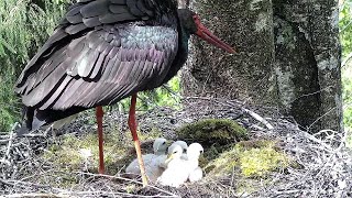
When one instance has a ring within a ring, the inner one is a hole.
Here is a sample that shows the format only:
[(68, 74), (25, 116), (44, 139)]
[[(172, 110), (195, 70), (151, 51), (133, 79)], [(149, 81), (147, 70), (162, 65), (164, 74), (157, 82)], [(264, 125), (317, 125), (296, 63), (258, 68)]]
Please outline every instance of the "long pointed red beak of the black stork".
[(227, 51), (228, 53), (234, 54), (235, 51), (229, 46), (228, 44), (223, 43), (219, 37), (217, 37), (216, 35), (213, 35), (204, 24), (200, 23), (200, 21), (198, 19), (195, 19), (198, 31), (196, 32), (196, 34), (201, 37), (202, 40), (207, 41), (208, 43), (216, 45), (224, 51)]

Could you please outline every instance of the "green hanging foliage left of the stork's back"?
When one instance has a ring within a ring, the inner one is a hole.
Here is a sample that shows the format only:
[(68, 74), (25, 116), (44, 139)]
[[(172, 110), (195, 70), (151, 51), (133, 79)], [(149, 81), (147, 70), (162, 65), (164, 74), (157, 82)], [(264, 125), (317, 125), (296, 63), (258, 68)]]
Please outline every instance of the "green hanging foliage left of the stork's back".
[(13, 85), (26, 62), (53, 32), (69, 0), (0, 1), (0, 131), (19, 121)]

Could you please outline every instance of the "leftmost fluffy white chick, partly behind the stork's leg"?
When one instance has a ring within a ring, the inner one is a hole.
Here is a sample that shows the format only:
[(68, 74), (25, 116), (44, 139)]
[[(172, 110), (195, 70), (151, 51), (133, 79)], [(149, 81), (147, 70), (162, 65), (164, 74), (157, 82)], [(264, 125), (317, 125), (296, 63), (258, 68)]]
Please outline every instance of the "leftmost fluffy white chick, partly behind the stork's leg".
[[(155, 182), (160, 177), (164, 168), (161, 166), (166, 160), (166, 139), (156, 139), (153, 144), (154, 154), (145, 154), (142, 156), (145, 167), (145, 174), (151, 182)], [(125, 173), (140, 175), (140, 165), (138, 158), (133, 160), (125, 168)]]

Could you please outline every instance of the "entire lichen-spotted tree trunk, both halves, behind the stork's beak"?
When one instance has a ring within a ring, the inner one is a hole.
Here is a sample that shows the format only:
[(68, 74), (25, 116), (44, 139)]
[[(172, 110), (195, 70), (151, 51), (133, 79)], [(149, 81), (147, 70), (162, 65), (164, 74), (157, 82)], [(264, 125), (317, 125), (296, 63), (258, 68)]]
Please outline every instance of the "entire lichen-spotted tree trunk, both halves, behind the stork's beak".
[(238, 54), (193, 40), (185, 96), (279, 107), (308, 130), (342, 131), (338, 2), (199, 0), (191, 4)]

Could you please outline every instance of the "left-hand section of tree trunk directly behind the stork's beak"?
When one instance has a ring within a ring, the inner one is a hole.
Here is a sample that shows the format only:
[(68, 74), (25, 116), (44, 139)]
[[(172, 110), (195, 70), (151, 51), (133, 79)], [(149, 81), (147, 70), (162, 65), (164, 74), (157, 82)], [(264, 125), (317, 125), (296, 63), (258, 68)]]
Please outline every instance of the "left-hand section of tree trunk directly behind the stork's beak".
[[(202, 22), (238, 51), (220, 51), (193, 38), (184, 94), (277, 103), (273, 70), (274, 36), (271, 1), (200, 0), (193, 3)], [(250, 86), (249, 86), (250, 85)]]

